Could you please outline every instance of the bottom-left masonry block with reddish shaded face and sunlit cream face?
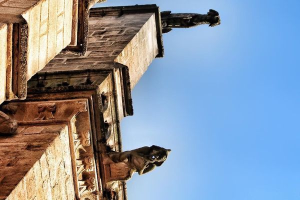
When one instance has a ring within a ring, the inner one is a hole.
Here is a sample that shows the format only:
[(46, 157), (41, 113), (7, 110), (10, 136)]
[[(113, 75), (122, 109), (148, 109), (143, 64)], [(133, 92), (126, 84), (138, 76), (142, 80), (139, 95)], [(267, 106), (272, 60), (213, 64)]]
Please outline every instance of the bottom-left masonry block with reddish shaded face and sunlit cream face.
[(0, 136), (0, 199), (74, 199), (66, 125), (22, 126)]

